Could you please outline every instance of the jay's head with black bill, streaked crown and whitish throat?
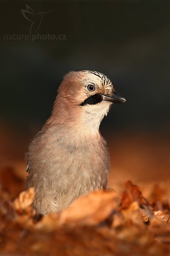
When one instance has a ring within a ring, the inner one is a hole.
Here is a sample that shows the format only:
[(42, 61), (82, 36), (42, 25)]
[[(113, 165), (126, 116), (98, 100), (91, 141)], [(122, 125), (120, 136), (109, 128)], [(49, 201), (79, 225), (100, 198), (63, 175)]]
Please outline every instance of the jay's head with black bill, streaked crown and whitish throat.
[(100, 122), (111, 105), (125, 102), (125, 98), (116, 93), (107, 76), (96, 71), (83, 70), (71, 71), (64, 77), (57, 96), (58, 104), (63, 101), (65, 111), (75, 113), (79, 123), (81, 119), (83, 125), (99, 129)]

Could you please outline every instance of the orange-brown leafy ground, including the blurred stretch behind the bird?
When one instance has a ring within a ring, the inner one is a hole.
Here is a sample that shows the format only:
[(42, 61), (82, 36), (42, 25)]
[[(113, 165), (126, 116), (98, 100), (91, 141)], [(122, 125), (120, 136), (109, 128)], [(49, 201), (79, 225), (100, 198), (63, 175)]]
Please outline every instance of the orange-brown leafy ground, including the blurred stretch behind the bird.
[(107, 191), (92, 192), (39, 220), (32, 207), (34, 188), (25, 191), (24, 152), (31, 136), (2, 138), (0, 255), (170, 255), (167, 136), (111, 138)]

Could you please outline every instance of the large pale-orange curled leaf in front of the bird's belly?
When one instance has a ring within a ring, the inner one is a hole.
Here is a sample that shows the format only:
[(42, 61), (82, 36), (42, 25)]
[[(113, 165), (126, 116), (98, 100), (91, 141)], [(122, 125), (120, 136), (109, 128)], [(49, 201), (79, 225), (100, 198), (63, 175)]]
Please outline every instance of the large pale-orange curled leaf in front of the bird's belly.
[(71, 207), (59, 213), (60, 224), (96, 225), (119, 208), (118, 193), (96, 191), (78, 198)]

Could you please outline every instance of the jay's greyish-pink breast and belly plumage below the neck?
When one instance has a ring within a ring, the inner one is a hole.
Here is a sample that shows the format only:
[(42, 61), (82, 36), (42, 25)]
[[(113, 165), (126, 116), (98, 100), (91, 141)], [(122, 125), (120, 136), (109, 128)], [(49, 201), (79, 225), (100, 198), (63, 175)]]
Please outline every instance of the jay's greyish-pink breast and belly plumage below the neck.
[(75, 136), (64, 127), (62, 136), (60, 129), (44, 127), (29, 146), (32, 166), (29, 164), (27, 184), (36, 188), (34, 207), (38, 213), (58, 212), (80, 195), (106, 188), (109, 157), (105, 140), (97, 134), (90, 141), (79, 137), (77, 144)]

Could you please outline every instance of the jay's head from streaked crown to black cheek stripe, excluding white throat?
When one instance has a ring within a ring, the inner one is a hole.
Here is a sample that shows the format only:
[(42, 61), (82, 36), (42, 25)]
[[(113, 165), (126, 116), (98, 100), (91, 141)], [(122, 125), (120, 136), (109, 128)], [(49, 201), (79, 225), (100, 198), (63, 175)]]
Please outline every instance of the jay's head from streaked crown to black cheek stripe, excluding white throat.
[(73, 105), (101, 108), (102, 103), (125, 102), (125, 98), (116, 93), (107, 76), (96, 71), (83, 70), (69, 72), (59, 87), (59, 94)]

